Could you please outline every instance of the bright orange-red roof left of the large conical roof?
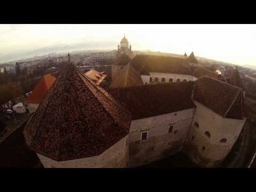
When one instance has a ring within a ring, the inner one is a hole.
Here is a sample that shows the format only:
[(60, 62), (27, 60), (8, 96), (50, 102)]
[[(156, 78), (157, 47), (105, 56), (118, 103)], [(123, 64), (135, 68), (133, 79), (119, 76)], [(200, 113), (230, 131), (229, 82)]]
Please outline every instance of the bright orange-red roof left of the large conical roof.
[(45, 94), (50, 90), (51, 86), (55, 82), (55, 79), (56, 78), (51, 74), (43, 76), (25, 102), (41, 103)]

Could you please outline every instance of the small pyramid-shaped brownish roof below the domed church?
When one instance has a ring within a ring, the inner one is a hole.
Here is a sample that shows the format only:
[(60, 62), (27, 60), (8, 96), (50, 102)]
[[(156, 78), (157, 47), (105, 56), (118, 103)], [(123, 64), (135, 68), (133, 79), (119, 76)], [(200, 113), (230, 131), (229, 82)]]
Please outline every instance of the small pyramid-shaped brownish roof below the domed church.
[(111, 87), (122, 87), (131, 85), (143, 85), (140, 74), (130, 65), (126, 65), (111, 83)]

